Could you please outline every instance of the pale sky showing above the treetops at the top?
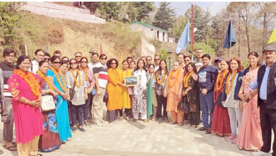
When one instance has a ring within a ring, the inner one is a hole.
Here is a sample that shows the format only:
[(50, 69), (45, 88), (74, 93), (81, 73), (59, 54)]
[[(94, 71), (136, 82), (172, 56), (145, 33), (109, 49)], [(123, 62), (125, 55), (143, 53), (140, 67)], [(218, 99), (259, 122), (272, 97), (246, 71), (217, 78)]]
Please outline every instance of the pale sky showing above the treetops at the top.
[[(159, 8), (160, 2), (154, 2), (154, 6)], [(200, 6), (204, 11), (211, 11), (212, 16), (215, 16), (221, 9), (226, 8), (229, 2), (192, 2), (192, 4)], [(171, 1), (170, 6), (175, 9), (176, 16), (184, 15), (184, 13), (190, 8), (191, 4), (188, 1), (185, 2), (173, 2)]]

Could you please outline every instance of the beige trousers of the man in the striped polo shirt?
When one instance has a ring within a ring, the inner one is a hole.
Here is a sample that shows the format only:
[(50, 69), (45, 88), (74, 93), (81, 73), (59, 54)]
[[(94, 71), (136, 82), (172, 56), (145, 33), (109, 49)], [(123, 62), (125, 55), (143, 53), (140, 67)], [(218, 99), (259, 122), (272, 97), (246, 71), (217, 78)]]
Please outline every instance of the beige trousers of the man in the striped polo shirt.
[(94, 123), (103, 121), (103, 96), (105, 96), (105, 89), (99, 88), (100, 94), (96, 94), (93, 98), (92, 120)]

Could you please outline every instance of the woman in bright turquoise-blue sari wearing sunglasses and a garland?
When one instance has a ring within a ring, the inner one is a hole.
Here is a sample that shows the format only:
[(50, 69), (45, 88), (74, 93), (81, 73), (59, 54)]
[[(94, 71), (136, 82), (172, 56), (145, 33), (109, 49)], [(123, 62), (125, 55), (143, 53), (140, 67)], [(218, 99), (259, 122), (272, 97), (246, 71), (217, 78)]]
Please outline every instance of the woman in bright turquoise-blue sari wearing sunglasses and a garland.
[(51, 67), (48, 69), (46, 76), (54, 84), (54, 91), (58, 94), (56, 103), (57, 129), (59, 130), (60, 140), (65, 143), (68, 138), (71, 138), (67, 104), (68, 92), (64, 75), (59, 70), (59, 67), (60, 58), (58, 56), (51, 57)]

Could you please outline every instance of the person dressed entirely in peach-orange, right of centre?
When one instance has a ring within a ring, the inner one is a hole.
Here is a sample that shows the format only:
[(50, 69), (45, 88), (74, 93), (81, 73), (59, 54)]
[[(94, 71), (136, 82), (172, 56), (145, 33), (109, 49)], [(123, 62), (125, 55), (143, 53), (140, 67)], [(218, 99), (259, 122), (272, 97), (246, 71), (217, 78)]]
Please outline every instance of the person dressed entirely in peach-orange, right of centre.
[(183, 72), (179, 62), (173, 63), (173, 70), (168, 74), (166, 89), (164, 96), (167, 98), (167, 112), (171, 112), (171, 124), (178, 123), (178, 126), (183, 124), (184, 112), (178, 109), (178, 103), (181, 99)]

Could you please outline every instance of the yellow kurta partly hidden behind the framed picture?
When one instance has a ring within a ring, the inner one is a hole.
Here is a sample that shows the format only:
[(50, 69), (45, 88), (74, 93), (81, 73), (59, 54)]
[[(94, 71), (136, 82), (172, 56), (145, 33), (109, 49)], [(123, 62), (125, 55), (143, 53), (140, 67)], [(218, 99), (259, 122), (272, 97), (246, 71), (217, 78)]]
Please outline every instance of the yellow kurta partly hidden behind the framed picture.
[[(126, 69), (122, 71), (122, 79), (125, 80), (125, 77), (131, 77), (132, 70)], [(130, 94), (128, 92), (127, 87), (122, 87), (122, 107), (123, 108), (131, 108)]]

